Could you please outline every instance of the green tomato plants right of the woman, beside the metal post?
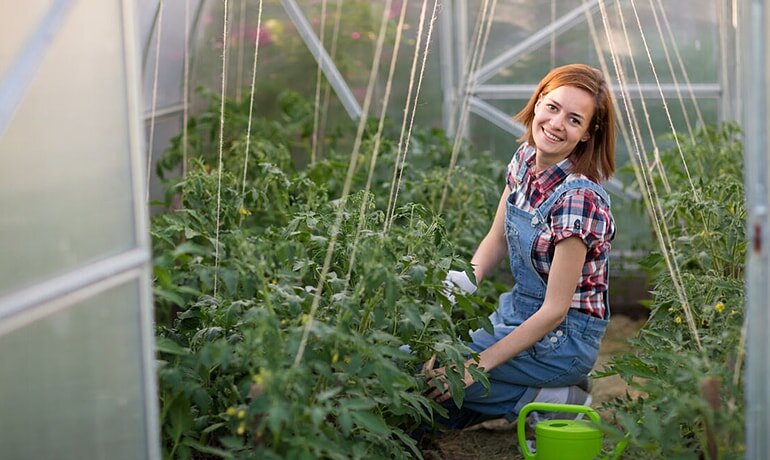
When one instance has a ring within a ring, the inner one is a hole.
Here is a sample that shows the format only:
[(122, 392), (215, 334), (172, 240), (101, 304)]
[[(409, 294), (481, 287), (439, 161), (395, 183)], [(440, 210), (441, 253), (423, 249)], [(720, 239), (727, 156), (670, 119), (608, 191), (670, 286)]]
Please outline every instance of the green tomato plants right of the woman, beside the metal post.
[[(680, 138), (662, 155), (671, 192), (662, 197), (673, 256), (702, 348), (662, 254), (643, 265), (654, 286), (650, 320), (605, 374), (637, 392), (609, 405), (631, 442), (630, 458), (739, 458), (744, 451), (743, 349), (746, 208), (738, 128)], [(684, 162), (683, 162), (684, 160)], [(684, 164), (689, 166), (690, 180)], [(659, 188), (663, 177), (656, 176)]]

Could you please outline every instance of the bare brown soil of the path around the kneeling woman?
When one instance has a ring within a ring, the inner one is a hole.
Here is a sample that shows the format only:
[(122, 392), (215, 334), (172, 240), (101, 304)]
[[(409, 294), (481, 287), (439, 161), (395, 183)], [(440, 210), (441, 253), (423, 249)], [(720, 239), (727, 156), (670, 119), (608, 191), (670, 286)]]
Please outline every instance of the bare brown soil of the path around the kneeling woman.
[[(613, 356), (629, 350), (626, 339), (632, 337), (645, 319), (614, 315), (602, 341), (595, 369), (601, 369)], [(627, 386), (618, 376), (594, 379), (591, 404), (599, 408), (605, 401), (625, 393)], [(436, 447), (424, 452), (431, 460), (520, 460), (516, 424), (505, 420), (486, 422), (463, 431), (447, 433), (436, 440)]]

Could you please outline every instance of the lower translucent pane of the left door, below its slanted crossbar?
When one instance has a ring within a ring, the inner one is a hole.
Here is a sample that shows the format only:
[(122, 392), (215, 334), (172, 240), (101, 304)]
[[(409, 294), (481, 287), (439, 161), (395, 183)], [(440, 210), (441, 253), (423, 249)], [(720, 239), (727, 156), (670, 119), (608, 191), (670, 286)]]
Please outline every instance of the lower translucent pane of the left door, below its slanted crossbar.
[(148, 457), (136, 281), (0, 337), (0, 457)]

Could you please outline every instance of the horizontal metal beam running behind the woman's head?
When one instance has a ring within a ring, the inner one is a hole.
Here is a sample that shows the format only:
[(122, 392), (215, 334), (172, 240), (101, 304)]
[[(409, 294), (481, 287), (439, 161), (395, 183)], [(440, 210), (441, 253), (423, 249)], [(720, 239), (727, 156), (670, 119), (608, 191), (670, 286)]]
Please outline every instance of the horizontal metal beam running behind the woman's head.
[[(695, 83), (691, 85), (696, 97), (717, 98), (722, 95), (722, 88), (717, 83)], [(471, 88), (472, 94), (480, 99), (529, 99), (537, 89), (537, 85), (479, 85)], [(663, 95), (666, 97), (678, 97), (677, 91), (689, 91), (685, 85), (665, 83), (661, 85)], [(613, 92), (620, 97), (621, 91), (618, 85), (613, 85)], [(628, 85), (628, 93), (631, 98), (659, 99), (660, 91), (653, 83)]]

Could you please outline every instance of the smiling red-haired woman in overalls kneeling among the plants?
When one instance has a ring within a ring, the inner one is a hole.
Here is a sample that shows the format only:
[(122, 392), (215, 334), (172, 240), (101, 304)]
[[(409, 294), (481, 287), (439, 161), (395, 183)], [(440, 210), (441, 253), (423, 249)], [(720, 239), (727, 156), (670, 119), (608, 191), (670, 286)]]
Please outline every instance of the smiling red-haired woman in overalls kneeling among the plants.
[[(510, 259), (516, 283), (490, 316), (492, 334), (471, 333), (470, 347), (490, 390), (466, 370), (463, 406), (445, 403), (442, 424), (514, 420), (533, 400), (589, 404), (587, 374), (610, 317), (610, 242), (615, 225), (599, 185), (615, 169), (614, 113), (600, 71), (582, 64), (552, 70), (515, 120), (526, 126), (489, 233), (471, 260), (480, 282)], [(465, 291), (463, 272), (448, 280)], [(444, 368), (424, 367), (431, 397), (448, 401)]]

